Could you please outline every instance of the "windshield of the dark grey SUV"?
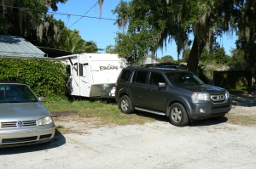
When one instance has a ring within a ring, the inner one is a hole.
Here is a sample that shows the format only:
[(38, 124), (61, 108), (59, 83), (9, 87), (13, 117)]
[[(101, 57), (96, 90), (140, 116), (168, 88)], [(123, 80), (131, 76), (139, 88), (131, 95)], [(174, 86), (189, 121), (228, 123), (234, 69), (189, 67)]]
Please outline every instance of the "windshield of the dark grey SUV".
[(171, 84), (175, 87), (196, 86), (204, 84), (200, 78), (189, 72), (167, 72), (166, 76)]

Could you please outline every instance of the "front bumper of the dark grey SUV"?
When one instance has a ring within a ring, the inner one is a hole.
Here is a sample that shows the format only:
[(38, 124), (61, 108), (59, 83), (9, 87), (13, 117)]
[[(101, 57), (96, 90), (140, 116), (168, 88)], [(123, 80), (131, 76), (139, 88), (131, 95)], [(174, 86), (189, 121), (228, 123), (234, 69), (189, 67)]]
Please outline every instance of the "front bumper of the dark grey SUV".
[(223, 116), (231, 110), (230, 102), (223, 104), (192, 104), (188, 113), (190, 121)]

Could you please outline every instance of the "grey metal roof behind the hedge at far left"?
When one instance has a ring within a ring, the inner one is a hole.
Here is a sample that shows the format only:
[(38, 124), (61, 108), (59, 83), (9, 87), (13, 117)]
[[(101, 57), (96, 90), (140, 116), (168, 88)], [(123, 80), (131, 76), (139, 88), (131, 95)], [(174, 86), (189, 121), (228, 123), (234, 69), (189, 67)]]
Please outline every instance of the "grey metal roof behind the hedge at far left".
[(44, 52), (23, 37), (0, 35), (0, 57), (44, 57)]

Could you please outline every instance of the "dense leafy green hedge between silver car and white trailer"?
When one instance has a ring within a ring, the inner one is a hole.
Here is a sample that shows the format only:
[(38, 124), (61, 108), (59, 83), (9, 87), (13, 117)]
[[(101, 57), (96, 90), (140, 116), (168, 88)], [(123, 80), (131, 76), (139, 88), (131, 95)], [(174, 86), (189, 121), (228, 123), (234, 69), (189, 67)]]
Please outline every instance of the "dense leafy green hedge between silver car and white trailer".
[(0, 58), (0, 80), (24, 82), (38, 96), (64, 97), (66, 77), (65, 65), (59, 61)]

